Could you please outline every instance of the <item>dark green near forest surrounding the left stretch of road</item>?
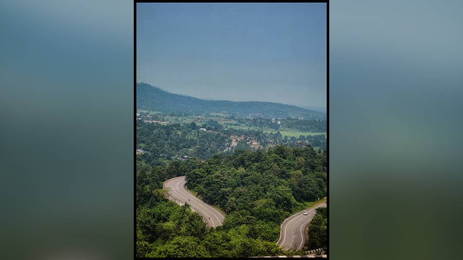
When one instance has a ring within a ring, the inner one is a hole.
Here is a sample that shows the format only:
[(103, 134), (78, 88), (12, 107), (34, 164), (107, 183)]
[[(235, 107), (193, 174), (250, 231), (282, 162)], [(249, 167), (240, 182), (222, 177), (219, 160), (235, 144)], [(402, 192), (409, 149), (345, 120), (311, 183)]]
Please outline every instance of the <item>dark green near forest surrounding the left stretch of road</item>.
[[(276, 245), (281, 222), (307, 201), (326, 195), (327, 154), (310, 146), (235, 150), (161, 166), (137, 157), (136, 166), (138, 257), (285, 254)], [(188, 189), (226, 212), (223, 226), (207, 229), (187, 205), (164, 197), (162, 183), (181, 175)]]

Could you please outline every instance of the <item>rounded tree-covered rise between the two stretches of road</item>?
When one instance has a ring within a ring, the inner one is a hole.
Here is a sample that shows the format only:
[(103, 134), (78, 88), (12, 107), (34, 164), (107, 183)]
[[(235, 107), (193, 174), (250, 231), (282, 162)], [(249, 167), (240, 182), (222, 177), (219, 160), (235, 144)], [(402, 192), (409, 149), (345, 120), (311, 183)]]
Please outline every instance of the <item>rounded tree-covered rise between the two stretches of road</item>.
[(310, 146), (275, 146), (268, 152), (238, 150), (233, 155), (215, 155), (209, 162), (213, 163), (186, 174), (187, 187), (225, 212), (244, 210), (258, 201), (257, 205), (269, 206), (263, 220), (281, 223), (284, 213), (269, 209), (292, 212), (297, 202), (326, 194), (326, 154)]

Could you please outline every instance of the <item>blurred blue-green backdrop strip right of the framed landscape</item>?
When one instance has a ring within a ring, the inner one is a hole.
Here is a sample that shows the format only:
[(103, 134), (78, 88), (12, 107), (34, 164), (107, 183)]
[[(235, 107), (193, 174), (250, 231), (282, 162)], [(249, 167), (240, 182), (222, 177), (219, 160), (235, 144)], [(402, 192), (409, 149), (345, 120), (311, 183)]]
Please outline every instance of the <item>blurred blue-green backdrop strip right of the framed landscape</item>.
[(333, 259), (461, 258), (462, 8), (330, 2)]

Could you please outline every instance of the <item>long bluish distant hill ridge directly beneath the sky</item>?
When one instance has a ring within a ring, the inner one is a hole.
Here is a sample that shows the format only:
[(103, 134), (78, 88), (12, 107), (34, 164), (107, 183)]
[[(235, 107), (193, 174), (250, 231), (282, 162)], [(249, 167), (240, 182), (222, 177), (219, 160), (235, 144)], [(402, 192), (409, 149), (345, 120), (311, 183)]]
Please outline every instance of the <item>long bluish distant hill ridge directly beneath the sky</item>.
[(204, 100), (172, 94), (146, 83), (137, 83), (137, 109), (159, 112), (203, 115), (206, 113), (225, 113), (234, 116), (262, 116), (272, 118), (301, 117), (304, 119), (323, 119), (326, 114), (293, 105), (273, 102), (225, 100)]

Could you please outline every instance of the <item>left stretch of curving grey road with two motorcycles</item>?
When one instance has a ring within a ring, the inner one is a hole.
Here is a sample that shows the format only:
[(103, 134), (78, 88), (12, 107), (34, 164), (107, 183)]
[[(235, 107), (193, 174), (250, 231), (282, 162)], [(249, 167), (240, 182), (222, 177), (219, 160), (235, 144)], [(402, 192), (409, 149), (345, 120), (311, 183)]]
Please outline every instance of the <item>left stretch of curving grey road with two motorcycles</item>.
[(163, 184), (163, 189), (166, 190), (169, 188), (167, 192), (168, 197), (177, 204), (184, 205), (188, 203), (195, 212), (203, 216), (203, 220), (206, 221), (207, 227), (215, 228), (222, 226), (225, 215), (204, 203), (201, 199), (193, 196), (186, 190), (185, 183), (185, 176), (175, 177), (166, 180)]

